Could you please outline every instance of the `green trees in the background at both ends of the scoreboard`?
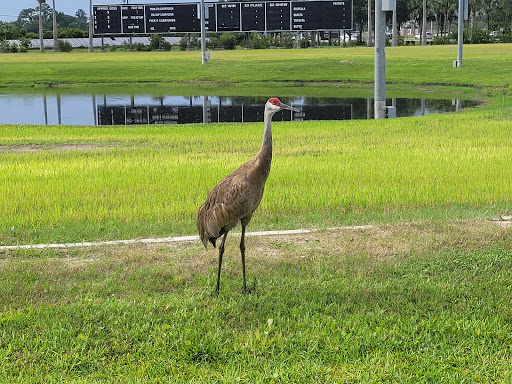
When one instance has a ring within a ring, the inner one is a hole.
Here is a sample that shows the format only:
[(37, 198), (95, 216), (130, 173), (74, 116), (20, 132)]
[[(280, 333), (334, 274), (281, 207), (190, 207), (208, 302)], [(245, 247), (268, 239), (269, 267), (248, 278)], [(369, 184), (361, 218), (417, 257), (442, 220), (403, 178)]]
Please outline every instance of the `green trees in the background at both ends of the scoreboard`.
[[(34, 2), (38, 3), (37, 0)], [(423, 0), (396, 0), (396, 2), (398, 28), (405, 28), (413, 21), (420, 30), (423, 19)], [(40, 7), (43, 15), (43, 35), (45, 38), (51, 38), (52, 8), (46, 3), (42, 3)], [(369, 7), (372, 10), (375, 9), (372, 0), (353, 0), (355, 30), (362, 32), (367, 29)], [(449, 39), (450, 33), (455, 29), (457, 13), (458, 0), (427, 0), (427, 30), (436, 38)], [(512, 0), (469, 0), (469, 15), (469, 21), (465, 23), (467, 42), (492, 41), (491, 31), (496, 31), (495, 34), (502, 41), (512, 41)], [(56, 18), (59, 38), (88, 36), (88, 15), (83, 9), (78, 9), (74, 16), (57, 11)], [(0, 40), (37, 38), (38, 21), (39, 5), (23, 9), (16, 21), (0, 22)], [(388, 24), (391, 25), (391, 12), (388, 12)], [(433, 26), (433, 30), (430, 30), (430, 25)], [(359, 34), (359, 41), (363, 43), (362, 33)]]

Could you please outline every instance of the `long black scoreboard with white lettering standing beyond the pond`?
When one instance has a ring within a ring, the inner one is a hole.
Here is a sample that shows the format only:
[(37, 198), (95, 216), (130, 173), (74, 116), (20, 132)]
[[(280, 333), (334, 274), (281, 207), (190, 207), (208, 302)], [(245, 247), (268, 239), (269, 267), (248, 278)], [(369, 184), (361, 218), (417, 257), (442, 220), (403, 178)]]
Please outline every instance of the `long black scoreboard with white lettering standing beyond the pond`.
[[(349, 1), (206, 3), (208, 32), (352, 29)], [(95, 35), (201, 32), (200, 4), (94, 5)]]

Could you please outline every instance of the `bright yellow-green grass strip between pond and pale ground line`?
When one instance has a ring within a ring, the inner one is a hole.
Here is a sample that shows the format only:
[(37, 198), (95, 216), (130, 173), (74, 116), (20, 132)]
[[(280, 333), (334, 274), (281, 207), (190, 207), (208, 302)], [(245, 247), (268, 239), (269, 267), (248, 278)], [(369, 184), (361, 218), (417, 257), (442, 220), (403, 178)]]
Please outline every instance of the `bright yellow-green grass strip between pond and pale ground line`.
[[(379, 122), (275, 123), (273, 168), (251, 227), (506, 214), (511, 114), (500, 105)], [(2, 126), (0, 242), (195, 233), (198, 207), (258, 150), (261, 125)]]

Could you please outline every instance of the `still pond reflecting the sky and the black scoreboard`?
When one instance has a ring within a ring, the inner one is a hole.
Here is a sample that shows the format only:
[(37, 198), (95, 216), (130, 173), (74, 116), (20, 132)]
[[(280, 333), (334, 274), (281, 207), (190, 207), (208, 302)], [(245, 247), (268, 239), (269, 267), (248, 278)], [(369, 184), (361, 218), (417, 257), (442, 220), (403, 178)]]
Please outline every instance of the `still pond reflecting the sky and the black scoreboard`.
[[(450, 95), (448, 95), (450, 97)], [(267, 97), (183, 96), (112, 92), (0, 94), (0, 124), (130, 125), (263, 121)], [(372, 119), (373, 99), (363, 97), (281, 97), (299, 109), (282, 111), (274, 120)], [(460, 98), (393, 98), (397, 117), (421, 116), (475, 107)]]

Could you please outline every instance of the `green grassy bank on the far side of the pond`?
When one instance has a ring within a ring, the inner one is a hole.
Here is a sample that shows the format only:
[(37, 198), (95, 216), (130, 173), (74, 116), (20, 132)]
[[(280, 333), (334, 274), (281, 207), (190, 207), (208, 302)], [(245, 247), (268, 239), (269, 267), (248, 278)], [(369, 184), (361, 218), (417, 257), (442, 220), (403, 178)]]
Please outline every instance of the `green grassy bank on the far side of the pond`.
[[(510, 87), (512, 45), (464, 47), (464, 67), (454, 69), (456, 46), (386, 49), (387, 81)], [(373, 83), (373, 48), (238, 50), (212, 52), (47, 52), (1, 55), (1, 86), (133, 83)]]

